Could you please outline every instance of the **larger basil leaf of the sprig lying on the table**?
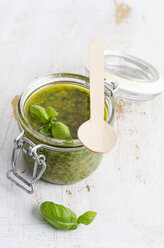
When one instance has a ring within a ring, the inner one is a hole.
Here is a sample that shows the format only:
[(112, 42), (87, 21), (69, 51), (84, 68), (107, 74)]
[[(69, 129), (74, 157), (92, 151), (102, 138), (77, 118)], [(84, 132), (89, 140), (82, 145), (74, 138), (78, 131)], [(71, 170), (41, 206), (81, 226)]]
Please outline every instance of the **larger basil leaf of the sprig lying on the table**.
[(78, 227), (76, 214), (62, 205), (43, 202), (40, 211), (42, 216), (58, 230), (73, 230)]

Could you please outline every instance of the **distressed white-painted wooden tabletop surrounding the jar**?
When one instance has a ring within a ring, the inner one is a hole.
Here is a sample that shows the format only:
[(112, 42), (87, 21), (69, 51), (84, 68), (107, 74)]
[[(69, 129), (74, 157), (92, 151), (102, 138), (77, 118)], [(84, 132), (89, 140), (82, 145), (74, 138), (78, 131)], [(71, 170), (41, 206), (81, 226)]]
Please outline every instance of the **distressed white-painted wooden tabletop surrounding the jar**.
[[(12, 99), (37, 76), (86, 74), (82, 57), (90, 39), (137, 55), (164, 74), (164, 1), (122, 1), (0, 0), (2, 248), (164, 247), (163, 95), (140, 103), (117, 99), (118, 145), (89, 178), (68, 186), (40, 181), (33, 195), (6, 179), (18, 134)], [(45, 200), (77, 215), (87, 210), (98, 215), (89, 226), (56, 231), (39, 214)]]

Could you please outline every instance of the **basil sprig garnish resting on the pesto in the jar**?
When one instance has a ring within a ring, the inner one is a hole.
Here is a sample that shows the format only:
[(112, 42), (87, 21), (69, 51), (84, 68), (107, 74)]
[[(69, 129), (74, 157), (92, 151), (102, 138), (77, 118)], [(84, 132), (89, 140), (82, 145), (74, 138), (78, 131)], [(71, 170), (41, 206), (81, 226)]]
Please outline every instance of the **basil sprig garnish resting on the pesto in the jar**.
[(30, 114), (41, 124), (45, 124), (39, 129), (41, 134), (53, 136), (55, 139), (72, 139), (69, 127), (56, 120), (58, 113), (51, 106), (45, 109), (39, 105), (32, 104), (30, 106)]

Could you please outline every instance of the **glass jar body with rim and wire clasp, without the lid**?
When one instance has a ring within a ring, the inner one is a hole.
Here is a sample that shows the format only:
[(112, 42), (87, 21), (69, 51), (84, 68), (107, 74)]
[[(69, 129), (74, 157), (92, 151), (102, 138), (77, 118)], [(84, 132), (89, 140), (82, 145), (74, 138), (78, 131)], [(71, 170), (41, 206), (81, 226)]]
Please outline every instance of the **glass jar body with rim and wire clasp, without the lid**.
[[(42, 135), (26, 120), (24, 111), (28, 98), (35, 91), (50, 84), (73, 84), (89, 89), (89, 78), (77, 74), (61, 73), (40, 77), (22, 93), (18, 102), (17, 120), (21, 134), (15, 140), (12, 154), (12, 169), (8, 178), (28, 193), (34, 190), (33, 184), (40, 178), (55, 184), (71, 184), (89, 176), (100, 164), (102, 154), (86, 149), (78, 139), (73, 142)], [(105, 85), (106, 121), (113, 124), (114, 103), (112, 99), (116, 84)], [(31, 181), (17, 172), (18, 157), (22, 152), (24, 163), (33, 171)], [(18, 178), (12, 177), (12, 174)]]

